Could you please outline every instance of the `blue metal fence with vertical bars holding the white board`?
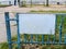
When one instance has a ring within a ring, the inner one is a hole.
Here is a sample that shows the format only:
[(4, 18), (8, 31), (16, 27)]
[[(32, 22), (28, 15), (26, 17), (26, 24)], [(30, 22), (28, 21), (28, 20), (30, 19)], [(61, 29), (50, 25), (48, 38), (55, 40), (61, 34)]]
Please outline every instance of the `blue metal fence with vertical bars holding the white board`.
[[(23, 44), (66, 45), (66, 34), (63, 34), (63, 33), (65, 33), (64, 29), (65, 29), (65, 25), (66, 25), (66, 22), (65, 22), (66, 13), (61, 13), (61, 14), (55, 13), (55, 15), (56, 15), (55, 35), (24, 34), (24, 35), (22, 35), (23, 38), (20, 37), (20, 32), (19, 32), (20, 30), (19, 29), (19, 14), (20, 13), (16, 13), (15, 19), (10, 19), (9, 12), (4, 13), (9, 49), (12, 49), (12, 44), (18, 44), (18, 49), (21, 48), (21, 44), (22, 45)], [(16, 28), (18, 28), (16, 29), (18, 30), (18, 40), (16, 41), (11, 40), (11, 28), (10, 28), (11, 21), (16, 22)], [(56, 33), (58, 36), (56, 35)]]

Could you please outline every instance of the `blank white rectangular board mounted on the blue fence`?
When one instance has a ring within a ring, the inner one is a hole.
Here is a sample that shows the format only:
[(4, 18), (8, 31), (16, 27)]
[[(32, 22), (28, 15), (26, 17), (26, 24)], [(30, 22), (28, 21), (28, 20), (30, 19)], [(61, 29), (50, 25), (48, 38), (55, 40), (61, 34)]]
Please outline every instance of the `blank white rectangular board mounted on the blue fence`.
[(55, 34), (55, 14), (19, 14), (21, 34)]

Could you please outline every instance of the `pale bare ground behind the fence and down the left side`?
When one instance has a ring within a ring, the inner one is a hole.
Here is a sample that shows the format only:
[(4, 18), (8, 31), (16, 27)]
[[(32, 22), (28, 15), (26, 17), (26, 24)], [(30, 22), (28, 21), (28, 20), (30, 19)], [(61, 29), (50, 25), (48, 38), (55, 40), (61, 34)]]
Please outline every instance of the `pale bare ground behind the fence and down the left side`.
[[(7, 7), (7, 8), (0, 8), (0, 42), (7, 41), (7, 33), (6, 33), (6, 21), (4, 21), (4, 12), (10, 12), (11, 17), (14, 16), (14, 13), (26, 13), (30, 12), (32, 10), (38, 11), (38, 10), (43, 10), (43, 11), (66, 11), (66, 7), (65, 5), (51, 5), (51, 7), (32, 7), (32, 8), (19, 8), (18, 5), (14, 7)], [(14, 24), (14, 23), (12, 23)], [(14, 28), (11, 26), (12, 28), (12, 35), (15, 35), (15, 30)]]

